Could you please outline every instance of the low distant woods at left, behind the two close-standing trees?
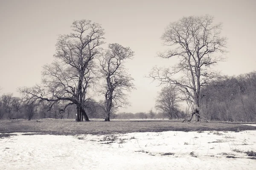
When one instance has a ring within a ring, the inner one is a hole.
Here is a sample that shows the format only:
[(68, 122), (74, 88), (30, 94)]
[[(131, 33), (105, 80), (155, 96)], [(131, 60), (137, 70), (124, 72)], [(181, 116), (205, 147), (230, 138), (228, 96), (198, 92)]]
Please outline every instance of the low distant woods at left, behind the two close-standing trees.
[[(90, 118), (105, 118), (104, 104), (95, 100), (87, 101), (87, 112)], [(0, 119), (39, 119), (39, 118), (76, 118), (76, 107), (70, 105), (64, 110), (63, 103), (58, 102), (51, 106), (47, 101), (39, 103), (26, 103), (11, 93), (0, 96)], [(51, 109), (49, 109), (51, 107)], [(116, 114), (110, 114), (115, 118)]]

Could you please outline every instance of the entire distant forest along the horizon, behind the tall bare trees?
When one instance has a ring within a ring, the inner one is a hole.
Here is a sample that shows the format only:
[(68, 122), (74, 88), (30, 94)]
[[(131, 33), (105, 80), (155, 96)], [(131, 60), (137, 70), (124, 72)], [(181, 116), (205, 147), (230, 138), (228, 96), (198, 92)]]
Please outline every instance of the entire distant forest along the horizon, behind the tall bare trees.
[[(160, 97), (160, 96), (158, 96)], [(157, 98), (158, 100), (158, 98)], [(209, 82), (201, 89), (201, 117), (209, 121), (256, 121), (256, 72), (238, 76), (222, 76)], [(181, 100), (177, 97), (173, 108), (169, 111), (155, 107), (157, 112), (113, 112), (111, 118), (116, 119), (155, 119), (169, 118), (182, 119), (189, 116), (189, 109), (184, 109)], [(104, 104), (89, 100), (86, 104), (89, 118), (105, 118)], [(76, 107), (69, 106), (64, 111), (61, 101), (49, 110), (49, 103), (42, 101), (38, 104), (26, 104), (12, 93), (0, 96), (0, 119), (23, 118), (76, 118)]]

